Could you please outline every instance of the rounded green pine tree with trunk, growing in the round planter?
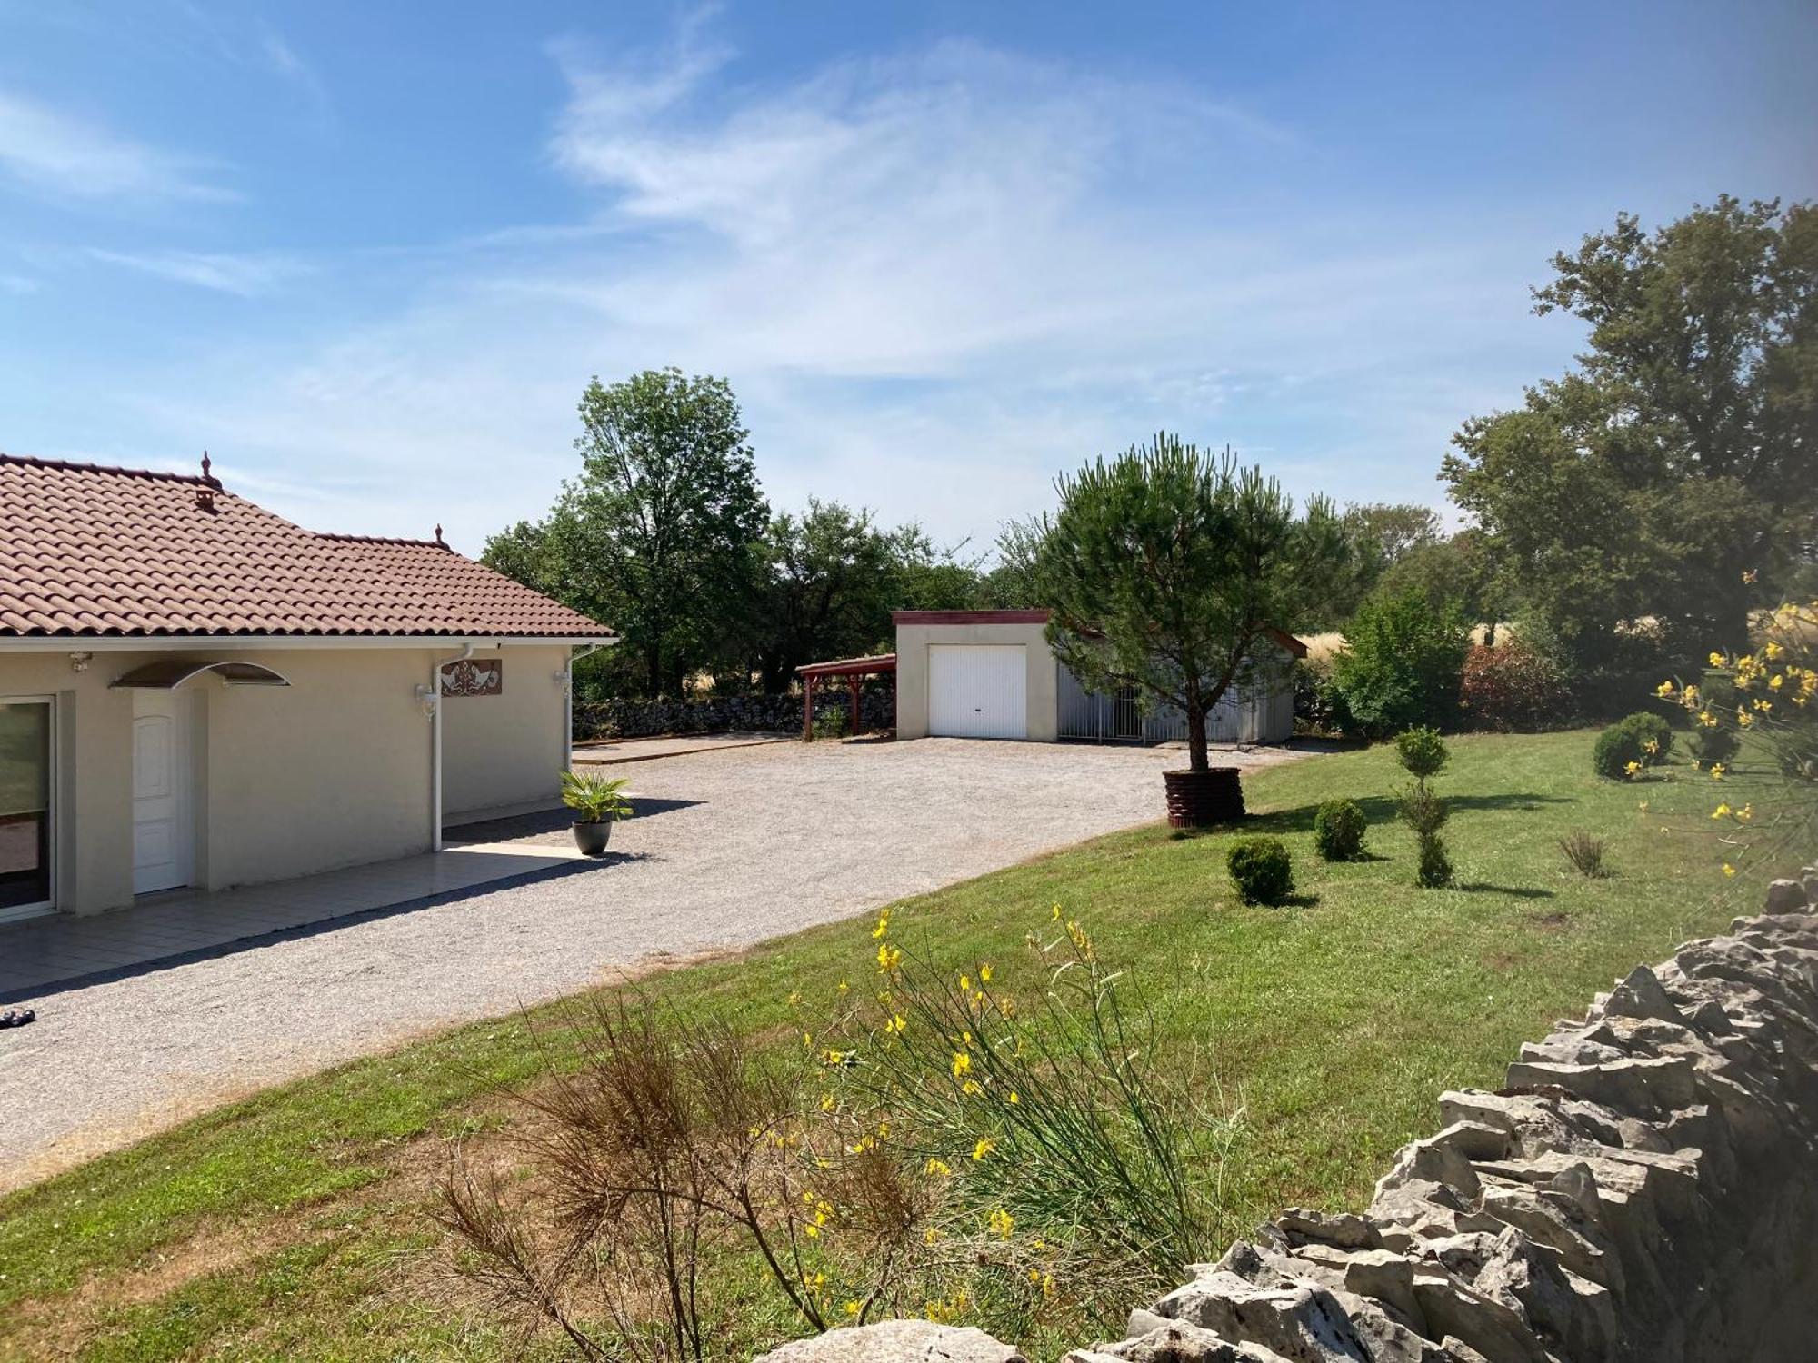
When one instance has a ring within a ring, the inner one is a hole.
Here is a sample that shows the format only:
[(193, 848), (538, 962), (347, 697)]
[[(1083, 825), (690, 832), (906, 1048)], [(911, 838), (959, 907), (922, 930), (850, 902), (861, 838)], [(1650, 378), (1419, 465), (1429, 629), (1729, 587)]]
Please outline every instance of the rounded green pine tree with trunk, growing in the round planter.
[(1345, 571), (1338, 514), (1316, 496), (1296, 516), (1260, 469), (1165, 433), (1056, 491), (1060, 509), (1022, 543), (1054, 656), (1089, 689), (1136, 685), (1178, 707), (1205, 771), (1207, 712), (1242, 678), (1285, 667), (1273, 632)]

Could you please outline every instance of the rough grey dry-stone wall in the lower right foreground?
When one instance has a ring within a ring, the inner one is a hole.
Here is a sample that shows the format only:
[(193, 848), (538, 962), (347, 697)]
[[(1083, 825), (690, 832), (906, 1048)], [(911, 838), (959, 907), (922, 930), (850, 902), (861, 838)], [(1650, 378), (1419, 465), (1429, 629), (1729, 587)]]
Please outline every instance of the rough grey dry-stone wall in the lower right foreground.
[[(1818, 869), (1440, 1114), (1365, 1214), (1291, 1209), (1064, 1363), (1818, 1358)], [(785, 1358), (1018, 1358), (942, 1328)]]

